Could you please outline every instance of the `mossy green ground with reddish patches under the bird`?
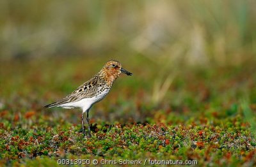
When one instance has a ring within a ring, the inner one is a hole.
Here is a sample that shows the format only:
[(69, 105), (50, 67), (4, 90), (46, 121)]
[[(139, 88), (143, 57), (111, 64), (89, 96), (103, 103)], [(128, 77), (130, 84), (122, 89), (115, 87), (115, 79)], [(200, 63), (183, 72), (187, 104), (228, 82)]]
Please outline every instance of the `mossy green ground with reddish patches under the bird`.
[(253, 62), (179, 71), (166, 96), (154, 104), (157, 73), (150, 62), (138, 66), (143, 61), (123, 62), (134, 75), (118, 78), (109, 95), (93, 106), (92, 138), (79, 133), (80, 110), (42, 106), (76, 89), (104, 61), (79, 57), (4, 63), (0, 166), (58, 166), (57, 159), (256, 164)]

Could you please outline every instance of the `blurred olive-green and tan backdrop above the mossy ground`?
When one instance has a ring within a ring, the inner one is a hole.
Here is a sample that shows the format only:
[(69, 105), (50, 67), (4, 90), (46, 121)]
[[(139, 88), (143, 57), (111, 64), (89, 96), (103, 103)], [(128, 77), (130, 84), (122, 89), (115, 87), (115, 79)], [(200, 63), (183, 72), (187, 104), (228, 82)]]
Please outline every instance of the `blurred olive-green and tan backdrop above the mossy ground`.
[(3, 0), (0, 12), (3, 59), (139, 54), (209, 65), (256, 52), (255, 1)]

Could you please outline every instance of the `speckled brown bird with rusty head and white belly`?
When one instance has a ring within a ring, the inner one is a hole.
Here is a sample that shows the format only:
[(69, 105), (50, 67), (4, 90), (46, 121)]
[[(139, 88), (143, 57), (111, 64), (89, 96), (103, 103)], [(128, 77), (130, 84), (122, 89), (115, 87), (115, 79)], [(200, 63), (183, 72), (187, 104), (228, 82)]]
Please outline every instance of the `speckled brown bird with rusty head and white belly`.
[(45, 108), (60, 107), (65, 109), (81, 108), (81, 124), (83, 134), (84, 130), (84, 113), (86, 112), (86, 122), (88, 125), (88, 137), (91, 136), (89, 111), (92, 106), (105, 98), (109, 93), (115, 80), (124, 73), (131, 76), (132, 73), (122, 68), (122, 64), (116, 60), (110, 60), (104, 64), (103, 68), (83, 85), (77, 87), (75, 91), (68, 94), (65, 98), (54, 103), (44, 106)]

